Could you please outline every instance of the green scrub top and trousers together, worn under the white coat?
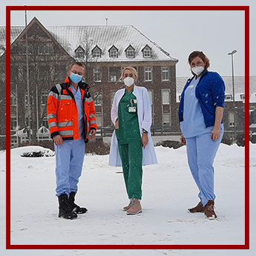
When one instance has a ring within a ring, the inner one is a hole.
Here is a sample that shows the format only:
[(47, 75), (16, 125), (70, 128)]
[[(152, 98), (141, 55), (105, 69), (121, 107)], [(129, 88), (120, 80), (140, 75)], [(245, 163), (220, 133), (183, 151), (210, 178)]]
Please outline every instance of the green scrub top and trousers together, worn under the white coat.
[(124, 96), (118, 106), (119, 129), (116, 129), (122, 171), (128, 197), (142, 198), (142, 142), (137, 115), (137, 98), (133, 90)]

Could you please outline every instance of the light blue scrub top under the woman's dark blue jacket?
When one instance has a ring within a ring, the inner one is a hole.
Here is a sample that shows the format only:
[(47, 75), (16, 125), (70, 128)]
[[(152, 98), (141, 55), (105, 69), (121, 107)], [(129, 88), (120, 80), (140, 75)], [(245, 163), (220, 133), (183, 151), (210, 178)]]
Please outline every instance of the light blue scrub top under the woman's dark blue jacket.
[(180, 122), (180, 128), (185, 138), (211, 133), (214, 128), (213, 126), (206, 128), (203, 112), (195, 94), (199, 80), (200, 78), (196, 79), (194, 76), (184, 93), (183, 122)]

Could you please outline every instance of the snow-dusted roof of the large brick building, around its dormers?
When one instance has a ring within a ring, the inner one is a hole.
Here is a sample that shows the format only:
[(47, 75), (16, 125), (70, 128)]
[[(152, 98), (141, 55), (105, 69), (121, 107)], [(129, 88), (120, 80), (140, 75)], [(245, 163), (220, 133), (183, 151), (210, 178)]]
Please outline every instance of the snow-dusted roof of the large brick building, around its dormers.
[[(32, 21), (35, 22), (34, 19)], [(98, 45), (102, 50), (102, 58), (98, 59), (98, 62), (148, 61), (148, 58), (143, 58), (142, 54), (142, 49), (148, 45), (152, 50), (150, 58), (152, 61), (178, 61), (133, 25), (49, 26), (45, 28), (72, 57), (75, 57), (75, 50), (79, 45), (83, 48), (88, 45), (90, 50)], [(24, 27), (12, 26), (10, 30), (11, 43), (13, 43)], [(118, 59), (115, 60), (111, 59), (108, 54), (112, 45), (119, 50)], [(135, 58), (132, 60), (126, 58), (127, 45), (133, 45), (135, 49)], [(0, 27), (0, 50), (1, 46), (5, 47), (5, 27)]]

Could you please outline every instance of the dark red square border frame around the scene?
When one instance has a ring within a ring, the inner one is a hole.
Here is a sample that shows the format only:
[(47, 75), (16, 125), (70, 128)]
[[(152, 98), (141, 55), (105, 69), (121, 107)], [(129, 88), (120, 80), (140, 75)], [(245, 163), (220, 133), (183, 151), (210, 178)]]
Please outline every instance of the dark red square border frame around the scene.
[[(243, 245), (12, 245), (10, 244), (10, 11), (11, 10), (242, 10), (245, 12), (245, 244)], [(7, 6), (6, 7), (6, 249), (249, 249), (249, 6)]]

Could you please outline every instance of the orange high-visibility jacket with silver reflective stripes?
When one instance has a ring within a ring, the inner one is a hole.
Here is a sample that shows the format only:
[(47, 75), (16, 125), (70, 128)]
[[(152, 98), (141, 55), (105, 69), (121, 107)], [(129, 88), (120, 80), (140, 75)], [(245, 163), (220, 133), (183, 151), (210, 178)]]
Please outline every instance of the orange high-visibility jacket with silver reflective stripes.
[[(88, 84), (79, 82), (78, 90), (81, 91), (84, 110), (85, 142), (88, 142), (90, 130), (97, 129), (94, 103), (88, 89)], [(50, 89), (47, 99), (47, 119), (52, 138), (60, 135), (63, 140), (79, 140), (78, 111), (70, 89), (69, 77), (65, 79), (65, 83)]]

